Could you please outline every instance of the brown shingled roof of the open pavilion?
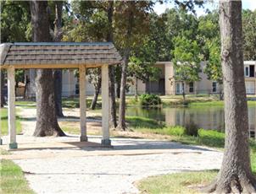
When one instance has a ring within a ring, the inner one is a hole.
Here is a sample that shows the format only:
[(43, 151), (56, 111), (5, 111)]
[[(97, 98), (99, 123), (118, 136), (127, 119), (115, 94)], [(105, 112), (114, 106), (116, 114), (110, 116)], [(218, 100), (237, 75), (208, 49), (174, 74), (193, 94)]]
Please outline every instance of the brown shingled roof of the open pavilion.
[[(1, 67), (97, 67), (119, 64), (122, 58), (111, 42), (17, 42), (0, 45)], [(47, 66), (46, 66), (47, 65)]]

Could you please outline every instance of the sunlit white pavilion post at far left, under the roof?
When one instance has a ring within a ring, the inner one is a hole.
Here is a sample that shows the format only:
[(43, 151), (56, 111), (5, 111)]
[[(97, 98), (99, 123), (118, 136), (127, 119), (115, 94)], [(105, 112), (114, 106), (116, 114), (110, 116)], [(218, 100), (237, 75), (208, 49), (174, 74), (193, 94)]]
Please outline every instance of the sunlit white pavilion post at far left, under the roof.
[(8, 137), (9, 148), (18, 148), (16, 143), (16, 121), (15, 121), (15, 70), (13, 66), (8, 67)]

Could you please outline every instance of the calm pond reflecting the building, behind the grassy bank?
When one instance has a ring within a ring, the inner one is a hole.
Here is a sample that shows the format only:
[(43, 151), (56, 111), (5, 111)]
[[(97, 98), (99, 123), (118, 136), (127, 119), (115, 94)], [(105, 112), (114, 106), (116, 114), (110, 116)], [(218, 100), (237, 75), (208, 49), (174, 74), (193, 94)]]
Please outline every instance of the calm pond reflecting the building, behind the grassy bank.
[[(128, 107), (127, 116), (143, 116), (157, 121), (164, 121), (167, 126), (185, 126), (194, 122), (203, 129), (225, 131), (224, 107), (195, 105), (190, 107), (162, 107), (145, 109)], [(251, 137), (256, 133), (256, 103), (248, 106), (249, 130)]]

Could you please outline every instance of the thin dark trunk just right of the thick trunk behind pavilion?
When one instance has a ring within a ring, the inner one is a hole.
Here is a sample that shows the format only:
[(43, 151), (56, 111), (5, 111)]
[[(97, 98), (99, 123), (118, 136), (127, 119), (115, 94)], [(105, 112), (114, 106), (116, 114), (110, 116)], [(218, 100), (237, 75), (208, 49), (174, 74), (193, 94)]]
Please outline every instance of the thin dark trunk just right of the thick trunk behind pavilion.
[[(61, 41), (62, 39), (62, 7), (63, 2), (57, 1), (55, 2), (55, 29), (54, 29), (54, 41)], [(64, 117), (62, 110), (62, 70), (56, 69), (53, 73), (54, 79), (54, 96), (55, 96), (55, 107), (56, 114), (59, 117)]]

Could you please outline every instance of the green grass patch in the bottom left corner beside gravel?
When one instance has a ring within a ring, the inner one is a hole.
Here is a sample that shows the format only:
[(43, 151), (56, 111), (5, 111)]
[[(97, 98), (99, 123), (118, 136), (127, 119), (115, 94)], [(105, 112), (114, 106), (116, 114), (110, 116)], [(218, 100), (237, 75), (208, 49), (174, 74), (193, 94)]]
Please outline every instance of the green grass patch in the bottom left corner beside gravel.
[(34, 193), (29, 188), (23, 171), (13, 161), (8, 159), (1, 160), (0, 175), (0, 193)]

